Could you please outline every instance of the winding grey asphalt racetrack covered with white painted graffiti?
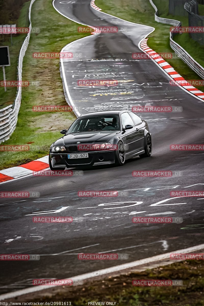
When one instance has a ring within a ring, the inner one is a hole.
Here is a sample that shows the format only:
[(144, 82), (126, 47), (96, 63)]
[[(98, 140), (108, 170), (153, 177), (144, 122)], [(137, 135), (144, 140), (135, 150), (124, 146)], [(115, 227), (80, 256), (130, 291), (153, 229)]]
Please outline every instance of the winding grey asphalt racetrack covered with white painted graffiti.
[[(39, 261), (5, 261), (1, 294), (32, 286), (35, 278), (71, 278), (203, 242), (203, 197), (170, 196), (174, 190), (203, 190), (203, 151), (170, 150), (171, 144), (203, 143), (203, 102), (171, 86), (152, 60), (132, 58), (133, 52), (142, 52), (138, 43), (153, 28), (94, 11), (89, 1), (64, 2), (54, 0), (54, 7), (73, 21), (127, 28), (126, 32), (91, 35), (63, 49), (81, 54), (61, 65), (78, 114), (147, 105), (182, 106), (183, 111), (141, 113), (152, 133), (150, 158), (136, 157), (122, 167), (87, 169), (83, 176), (29, 176), (1, 184), (1, 191), (40, 192), (39, 198), (1, 199), (1, 253), (40, 255)], [(77, 81), (87, 78), (123, 82), (117, 87), (79, 87)], [(168, 170), (175, 175), (133, 177), (133, 170)], [(79, 197), (80, 190), (125, 191), (128, 196)], [(33, 216), (55, 215), (60, 209), (57, 216), (83, 221), (32, 221)], [(183, 223), (134, 224), (134, 216), (182, 217)], [(126, 253), (128, 260), (78, 260), (82, 252)]]

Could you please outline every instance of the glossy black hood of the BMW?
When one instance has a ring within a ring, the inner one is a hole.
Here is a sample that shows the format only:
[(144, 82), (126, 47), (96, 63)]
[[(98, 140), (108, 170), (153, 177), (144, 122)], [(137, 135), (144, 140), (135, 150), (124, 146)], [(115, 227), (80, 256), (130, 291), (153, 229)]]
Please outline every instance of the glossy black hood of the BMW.
[(120, 133), (120, 131), (101, 131), (101, 132), (82, 132), (67, 134), (56, 140), (54, 146), (76, 145), (78, 141), (80, 144), (96, 144), (108, 142), (112, 137)]

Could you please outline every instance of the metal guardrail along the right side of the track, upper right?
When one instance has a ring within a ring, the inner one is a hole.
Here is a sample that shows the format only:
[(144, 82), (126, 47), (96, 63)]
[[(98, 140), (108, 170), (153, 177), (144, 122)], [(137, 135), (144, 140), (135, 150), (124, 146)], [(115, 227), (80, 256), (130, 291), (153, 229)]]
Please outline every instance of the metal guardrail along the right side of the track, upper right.
[[(157, 22), (165, 23), (165, 24), (172, 24), (173, 26), (177, 27), (181, 25), (181, 22), (178, 20), (173, 19), (166, 19), (158, 17), (158, 10), (155, 4), (150, 0), (150, 4), (153, 6), (155, 10), (154, 20)], [(172, 32), (170, 32), (170, 47), (174, 50), (176, 54), (186, 63), (192, 70), (194, 70), (202, 79), (204, 79), (204, 68), (195, 61), (194, 58), (191, 57), (190, 54), (187, 53), (184, 48), (182, 48), (178, 43), (173, 40)]]

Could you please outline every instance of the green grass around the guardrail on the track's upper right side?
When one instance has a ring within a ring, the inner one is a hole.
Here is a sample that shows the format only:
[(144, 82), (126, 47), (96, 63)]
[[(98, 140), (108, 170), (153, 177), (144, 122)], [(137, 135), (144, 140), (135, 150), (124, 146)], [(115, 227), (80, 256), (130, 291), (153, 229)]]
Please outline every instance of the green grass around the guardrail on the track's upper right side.
[[(154, 0), (154, 3), (157, 7), (161, 7), (162, 9), (159, 10), (160, 17), (168, 17), (172, 19), (177, 19), (182, 21), (183, 23), (186, 22), (187, 17), (180, 17), (180, 16), (164, 16), (166, 11), (166, 0)], [(151, 6), (148, 0), (109, 0), (108, 2), (105, 0), (96, 0), (95, 4), (102, 9), (103, 12), (109, 13), (113, 16), (122, 18), (127, 21), (139, 23), (139, 24), (146, 24), (155, 28), (155, 31), (152, 32), (148, 37), (148, 46), (151, 47), (157, 53), (165, 53), (169, 52), (172, 53), (172, 49), (169, 44), (169, 32), (170, 32), (170, 25), (165, 25), (154, 21), (154, 9)], [(168, 11), (168, 10), (167, 10)], [(161, 14), (161, 15), (160, 15)], [(186, 24), (184, 24), (186, 25)], [(179, 36), (179, 37), (178, 37)], [(177, 39), (186, 39), (188, 34), (177, 35), (175, 41)], [(180, 43), (180, 42), (178, 42)], [(203, 47), (194, 40), (190, 39), (189, 45), (191, 46), (191, 51), (185, 48), (187, 52), (191, 54), (195, 60), (198, 60), (200, 64), (204, 66), (203, 60)], [(198, 55), (197, 55), (198, 54)], [(195, 56), (194, 56), (195, 55)], [(168, 59), (170, 65), (184, 77), (185, 80), (200, 80), (201, 77), (197, 75), (192, 69), (190, 69), (181, 59)], [(204, 86), (196, 86), (199, 90), (204, 91)]]

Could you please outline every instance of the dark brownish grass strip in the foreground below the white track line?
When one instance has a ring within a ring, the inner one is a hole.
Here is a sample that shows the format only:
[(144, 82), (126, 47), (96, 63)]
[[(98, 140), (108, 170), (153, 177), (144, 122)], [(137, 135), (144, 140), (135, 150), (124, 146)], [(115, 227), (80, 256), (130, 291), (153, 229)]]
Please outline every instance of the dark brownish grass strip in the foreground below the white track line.
[[(132, 280), (182, 280), (182, 286), (133, 286)], [(69, 287), (69, 288), (68, 288)], [(73, 306), (116, 302), (125, 306), (202, 306), (204, 305), (203, 260), (187, 260), (143, 272), (122, 274), (104, 280), (86, 282), (82, 286), (64, 286), (57, 294), (43, 296), (32, 302), (70, 302)], [(29, 300), (30, 301), (30, 300)], [(167, 303), (167, 304), (165, 304)], [(176, 304), (175, 304), (176, 303)], [(59, 305), (59, 304), (58, 304)], [(98, 304), (100, 305), (100, 304)], [(114, 305), (114, 304), (113, 304)]]

